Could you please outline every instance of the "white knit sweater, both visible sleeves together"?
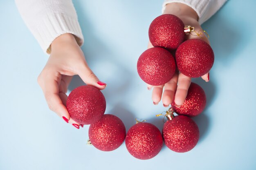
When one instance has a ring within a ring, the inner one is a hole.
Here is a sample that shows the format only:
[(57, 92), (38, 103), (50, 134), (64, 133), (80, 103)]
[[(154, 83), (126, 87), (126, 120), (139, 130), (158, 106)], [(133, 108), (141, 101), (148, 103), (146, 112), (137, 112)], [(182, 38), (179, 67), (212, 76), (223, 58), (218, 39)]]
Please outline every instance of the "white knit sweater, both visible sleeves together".
[[(81, 46), (83, 34), (72, 0), (15, 0), (27, 27), (39, 42), (43, 51), (50, 53), (52, 41), (63, 33), (72, 33)], [(226, 0), (165, 0), (165, 5), (180, 2), (193, 8), (202, 24), (208, 20)]]

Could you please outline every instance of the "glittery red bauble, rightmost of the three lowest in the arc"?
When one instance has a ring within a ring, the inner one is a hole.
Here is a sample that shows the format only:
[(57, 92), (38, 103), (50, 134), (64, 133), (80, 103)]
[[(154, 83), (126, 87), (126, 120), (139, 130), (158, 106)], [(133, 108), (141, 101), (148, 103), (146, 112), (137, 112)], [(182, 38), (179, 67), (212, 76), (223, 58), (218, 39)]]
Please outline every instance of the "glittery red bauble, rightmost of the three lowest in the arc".
[(163, 128), (164, 143), (175, 152), (187, 152), (195, 147), (199, 139), (197, 124), (184, 115), (168, 120)]

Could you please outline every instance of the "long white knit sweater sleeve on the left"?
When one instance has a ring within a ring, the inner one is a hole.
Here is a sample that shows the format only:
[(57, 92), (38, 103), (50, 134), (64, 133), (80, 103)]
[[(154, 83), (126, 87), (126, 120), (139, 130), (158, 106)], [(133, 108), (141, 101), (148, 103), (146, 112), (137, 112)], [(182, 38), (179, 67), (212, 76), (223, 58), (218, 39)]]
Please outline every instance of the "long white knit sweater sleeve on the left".
[(15, 0), (27, 27), (43, 51), (50, 53), (52, 41), (72, 33), (81, 46), (83, 34), (72, 0)]

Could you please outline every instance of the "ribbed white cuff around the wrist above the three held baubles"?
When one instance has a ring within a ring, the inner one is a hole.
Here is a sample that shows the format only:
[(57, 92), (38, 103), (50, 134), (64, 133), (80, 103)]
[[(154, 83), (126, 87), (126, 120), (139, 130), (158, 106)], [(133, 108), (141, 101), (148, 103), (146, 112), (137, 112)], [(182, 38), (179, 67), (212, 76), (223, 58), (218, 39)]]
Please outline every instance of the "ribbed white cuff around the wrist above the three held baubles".
[(162, 8), (162, 13), (164, 13), (164, 10), (166, 8), (166, 4), (172, 3), (172, 2), (179, 2), (182, 4), (186, 4), (192, 9), (195, 10), (195, 12), (198, 14), (198, 22), (202, 23), (204, 21), (201, 21), (202, 16), (204, 15), (205, 11), (207, 10), (207, 6), (209, 4), (209, 1), (207, 0), (165, 0)]

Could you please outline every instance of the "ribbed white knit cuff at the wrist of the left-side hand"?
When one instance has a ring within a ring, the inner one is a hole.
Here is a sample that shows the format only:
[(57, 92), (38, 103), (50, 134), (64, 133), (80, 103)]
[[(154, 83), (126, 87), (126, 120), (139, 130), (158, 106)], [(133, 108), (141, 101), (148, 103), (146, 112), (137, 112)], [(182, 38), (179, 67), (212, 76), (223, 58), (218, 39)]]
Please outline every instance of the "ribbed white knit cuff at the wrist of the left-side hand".
[(79, 46), (83, 45), (83, 34), (77, 18), (67, 16), (63, 13), (46, 15), (43, 20), (33, 30), (33, 34), (38, 40), (43, 51), (51, 53), (50, 45), (53, 40), (64, 33), (75, 35)]

